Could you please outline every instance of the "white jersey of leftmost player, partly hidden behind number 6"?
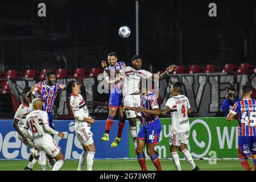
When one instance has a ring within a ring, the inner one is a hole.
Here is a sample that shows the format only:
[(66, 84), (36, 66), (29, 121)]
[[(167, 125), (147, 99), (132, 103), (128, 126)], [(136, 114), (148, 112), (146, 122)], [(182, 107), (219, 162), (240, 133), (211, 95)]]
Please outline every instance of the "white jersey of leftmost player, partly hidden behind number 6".
[(15, 119), (18, 119), (19, 122), (18, 122), (18, 127), (23, 127), (24, 126), (24, 123), (26, 121), (26, 116), (32, 111), (34, 110), (33, 109), (33, 106), (32, 104), (30, 103), (28, 106), (26, 106), (25, 104), (20, 104), (19, 108), (16, 110), (16, 113), (15, 113), (15, 116), (14, 118)]

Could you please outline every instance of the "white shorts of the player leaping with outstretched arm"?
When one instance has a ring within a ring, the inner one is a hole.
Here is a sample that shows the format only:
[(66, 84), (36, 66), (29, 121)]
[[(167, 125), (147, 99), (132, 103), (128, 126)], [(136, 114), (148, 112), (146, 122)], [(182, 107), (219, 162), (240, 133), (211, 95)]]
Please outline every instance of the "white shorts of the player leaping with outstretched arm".
[[(141, 106), (141, 95), (140, 94), (131, 94), (123, 97), (123, 106), (129, 107), (140, 107)], [(127, 118), (135, 118), (141, 116), (141, 113), (137, 113), (133, 110), (125, 111)]]

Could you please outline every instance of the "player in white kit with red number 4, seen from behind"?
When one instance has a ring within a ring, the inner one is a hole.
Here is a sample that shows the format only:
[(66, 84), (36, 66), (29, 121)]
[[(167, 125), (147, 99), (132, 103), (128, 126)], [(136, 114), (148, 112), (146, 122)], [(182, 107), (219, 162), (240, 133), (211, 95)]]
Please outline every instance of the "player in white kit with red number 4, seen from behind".
[(175, 82), (171, 86), (172, 97), (166, 102), (166, 106), (160, 111), (161, 115), (166, 115), (171, 111), (172, 123), (170, 133), (170, 150), (172, 159), (178, 171), (181, 171), (180, 158), (177, 154), (177, 148), (192, 166), (192, 171), (200, 171), (192, 159), (190, 152), (185, 148), (189, 138), (189, 119), (188, 113), (191, 113), (189, 100), (186, 96), (180, 94), (181, 83)]

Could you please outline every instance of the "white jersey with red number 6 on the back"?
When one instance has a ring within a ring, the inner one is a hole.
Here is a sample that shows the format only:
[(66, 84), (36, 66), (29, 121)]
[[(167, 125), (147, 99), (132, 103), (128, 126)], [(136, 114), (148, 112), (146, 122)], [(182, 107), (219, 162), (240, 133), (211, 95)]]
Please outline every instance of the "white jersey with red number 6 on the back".
[(51, 138), (51, 134), (44, 131), (43, 125), (49, 125), (48, 114), (43, 110), (34, 110), (31, 111), (30, 114), (26, 117), (26, 122), (24, 124), (24, 128), (30, 128), (32, 131), (32, 136), (35, 139), (39, 138)]

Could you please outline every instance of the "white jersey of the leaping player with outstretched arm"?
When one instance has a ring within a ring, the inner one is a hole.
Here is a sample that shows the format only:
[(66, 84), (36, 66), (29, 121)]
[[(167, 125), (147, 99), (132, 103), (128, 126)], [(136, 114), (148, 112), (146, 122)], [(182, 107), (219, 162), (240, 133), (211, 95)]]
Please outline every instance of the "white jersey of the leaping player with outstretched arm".
[(123, 96), (128, 96), (135, 92), (139, 93), (139, 81), (141, 78), (149, 79), (152, 76), (152, 73), (144, 69), (136, 70), (131, 67), (125, 67), (121, 71), (126, 75), (123, 80)]

